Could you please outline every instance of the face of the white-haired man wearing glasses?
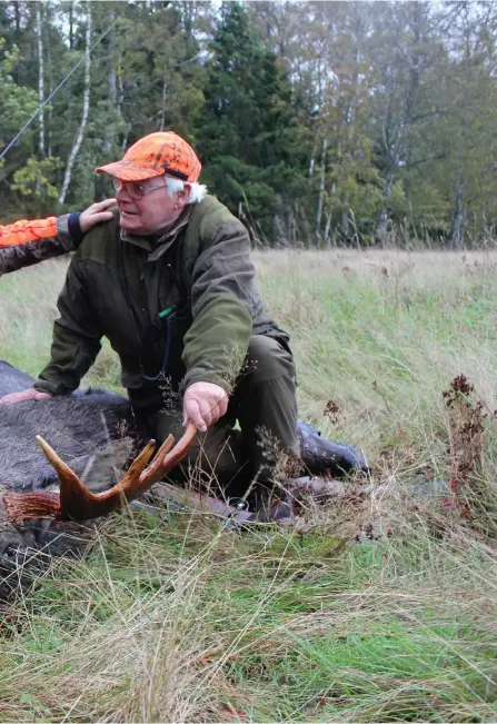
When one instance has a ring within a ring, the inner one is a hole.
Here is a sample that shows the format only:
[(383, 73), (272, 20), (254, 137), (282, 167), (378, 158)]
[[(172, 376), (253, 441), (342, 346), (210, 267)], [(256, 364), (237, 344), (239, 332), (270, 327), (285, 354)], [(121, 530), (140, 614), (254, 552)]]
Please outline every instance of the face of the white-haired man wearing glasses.
[[(141, 198), (136, 198), (140, 194)], [(157, 234), (171, 226), (186, 202), (185, 195), (168, 195), (165, 176), (145, 181), (122, 181), (122, 187), (116, 190), (116, 199), (121, 215), (121, 228), (139, 236)]]

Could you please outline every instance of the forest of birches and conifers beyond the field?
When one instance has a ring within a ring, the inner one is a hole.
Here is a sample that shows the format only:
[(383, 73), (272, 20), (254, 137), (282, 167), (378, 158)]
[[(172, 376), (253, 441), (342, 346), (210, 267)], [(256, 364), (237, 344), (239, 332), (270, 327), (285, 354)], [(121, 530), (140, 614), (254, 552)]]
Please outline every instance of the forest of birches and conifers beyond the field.
[(256, 245), (494, 246), (496, 28), (491, 2), (2, 2), (0, 152), (81, 65), (2, 157), (1, 220), (111, 195), (95, 167), (172, 129)]

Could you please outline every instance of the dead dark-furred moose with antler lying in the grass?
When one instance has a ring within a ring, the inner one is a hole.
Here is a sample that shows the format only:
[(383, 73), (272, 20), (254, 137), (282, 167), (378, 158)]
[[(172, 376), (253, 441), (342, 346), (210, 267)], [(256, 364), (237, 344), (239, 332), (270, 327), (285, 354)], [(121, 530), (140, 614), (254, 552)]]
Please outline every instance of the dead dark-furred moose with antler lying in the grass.
[[(32, 383), (0, 360), (0, 397)], [(18, 584), (19, 571), (30, 579), (51, 556), (80, 553), (95, 529), (81, 523), (121, 507), (163, 478), (196, 435), (189, 426), (176, 446), (170, 437), (151, 462), (150, 440), (116, 479), (131, 447), (123, 432), (137, 435), (130, 405), (105, 390), (0, 405), (0, 598)]]

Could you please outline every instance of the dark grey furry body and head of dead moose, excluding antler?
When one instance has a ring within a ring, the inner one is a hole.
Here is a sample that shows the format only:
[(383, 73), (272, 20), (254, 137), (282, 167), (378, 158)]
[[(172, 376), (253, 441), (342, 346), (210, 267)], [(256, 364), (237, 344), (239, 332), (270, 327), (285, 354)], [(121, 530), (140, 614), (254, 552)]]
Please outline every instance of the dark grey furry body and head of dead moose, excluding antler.
[[(0, 360), (0, 397), (34, 380)], [(135, 434), (128, 400), (105, 390), (77, 391), (46, 401), (0, 405), (0, 599), (28, 586), (52, 556), (79, 555), (92, 526), (57, 520), (13, 525), (4, 515), (3, 493), (58, 489), (59, 479), (37, 445), (41, 435), (95, 490), (111, 487), (131, 450)]]

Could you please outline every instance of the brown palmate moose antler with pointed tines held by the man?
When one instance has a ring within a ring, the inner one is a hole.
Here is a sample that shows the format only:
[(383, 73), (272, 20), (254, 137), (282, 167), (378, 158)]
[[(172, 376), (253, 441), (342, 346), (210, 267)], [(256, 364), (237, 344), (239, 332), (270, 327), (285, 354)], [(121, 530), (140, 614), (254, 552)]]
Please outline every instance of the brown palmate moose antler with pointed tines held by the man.
[(49, 463), (56, 468), (60, 480), (60, 494), (6, 493), (3, 506), (7, 518), (12, 523), (21, 523), (27, 518), (40, 518), (47, 515), (53, 515), (59, 520), (87, 520), (108, 515), (126, 502), (130, 503), (142, 495), (153, 483), (176, 467), (188, 455), (196, 435), (197, 428), (192, 423), (188, 424), (183, 436), (176, 445), (175, 438), (169, 435), (152, 463), (146, 467), (156, 448), (156, 442), (150, 440), (123, 478), (105, 493), (90, 493), (50, 445), (37, 436), (38, 444)]

